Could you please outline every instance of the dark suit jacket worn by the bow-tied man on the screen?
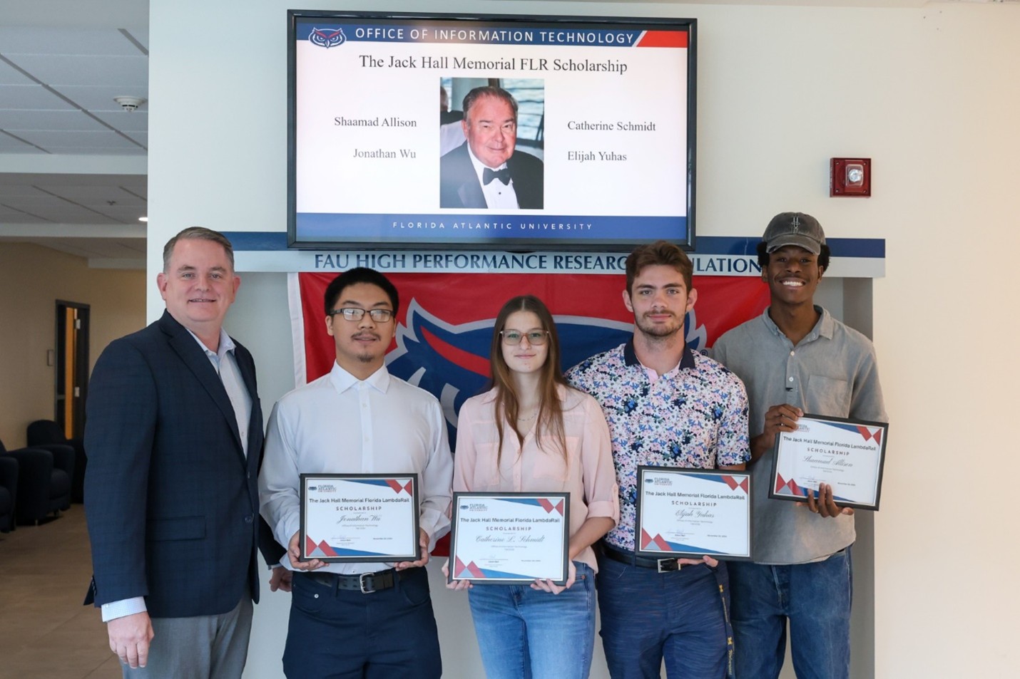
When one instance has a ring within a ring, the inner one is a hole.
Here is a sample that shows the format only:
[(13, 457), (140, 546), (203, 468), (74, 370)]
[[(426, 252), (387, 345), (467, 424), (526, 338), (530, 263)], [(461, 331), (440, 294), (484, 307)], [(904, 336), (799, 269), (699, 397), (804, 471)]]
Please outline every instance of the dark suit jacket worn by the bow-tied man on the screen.
[[(545, 165), (529, 153), (514, 151), (507, 169), (517, 194), (517, 206), (541, 210), (544, 205)], [(494, 179), (495, 180), (495, 179)], [(467, 154), (467, 142), (440, 158), (440, 207), (486, 209), (481, 182)]]

